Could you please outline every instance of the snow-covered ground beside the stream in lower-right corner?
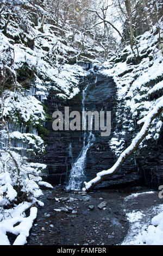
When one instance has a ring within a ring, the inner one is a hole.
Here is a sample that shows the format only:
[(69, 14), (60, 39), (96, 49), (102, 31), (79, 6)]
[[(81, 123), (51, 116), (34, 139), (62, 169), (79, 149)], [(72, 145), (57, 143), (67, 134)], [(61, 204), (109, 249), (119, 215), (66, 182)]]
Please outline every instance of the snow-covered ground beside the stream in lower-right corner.
[[(142, 194), (154, 192), (144, 192), (131, 194), (125, 198), (128, 201)], [(163, 245), (163, 204), (152, 206), (146, 210), (126, 212), (129, 221), (129, 231), (122, 242), (122, 245)], [(154, 216), (154, 217), (152, 217)]]

